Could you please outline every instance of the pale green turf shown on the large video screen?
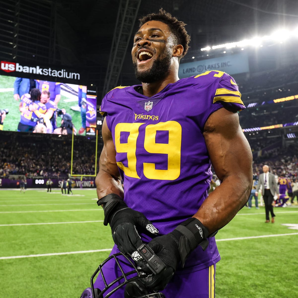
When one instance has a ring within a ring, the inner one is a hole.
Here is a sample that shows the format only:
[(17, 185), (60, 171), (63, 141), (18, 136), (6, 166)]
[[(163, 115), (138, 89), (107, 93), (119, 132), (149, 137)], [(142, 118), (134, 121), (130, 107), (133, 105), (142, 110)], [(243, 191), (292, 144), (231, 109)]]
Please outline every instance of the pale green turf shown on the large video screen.
[[(19, 111), (20, 100), (16, 101), (13, 98), (13, 83), (15, 82), (15, 77), (9, 77), (0, 75), (0, 110), (8, 108), (9, 112), (6, 116), (3, 123), (4, 131), (17, 131), (18, 123), (21, 119), (21, 113)], [(9, 90), (7, 90), (9, 89)], [(82, 127), (82, 118), (81, 113), (78, 111), (73, 111), (71, 107), (73, 105), (77, 105), (77, 101), (66, 102), (67, 97), (61, 95), (61, 99), (58, 103), (58, 108), (65, 108), (66, 112), (72, 116), (72, 123), (75, 125), (77, 132)], [(58, 127), (61, 124), (61, 118), (57, 117), (57, 125)]]

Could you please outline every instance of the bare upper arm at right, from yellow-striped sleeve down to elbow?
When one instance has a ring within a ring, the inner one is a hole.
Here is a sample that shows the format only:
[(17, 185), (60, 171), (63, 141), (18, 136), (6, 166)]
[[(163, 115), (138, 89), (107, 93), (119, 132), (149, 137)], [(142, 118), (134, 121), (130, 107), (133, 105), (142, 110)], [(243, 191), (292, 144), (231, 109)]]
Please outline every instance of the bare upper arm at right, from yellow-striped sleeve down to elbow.
[(252, 181), (252, 151), (237, 112), (221, 108), (211, 114), (204, 126), (204, 138), (212, 166), (221, 181), (231, 175)]

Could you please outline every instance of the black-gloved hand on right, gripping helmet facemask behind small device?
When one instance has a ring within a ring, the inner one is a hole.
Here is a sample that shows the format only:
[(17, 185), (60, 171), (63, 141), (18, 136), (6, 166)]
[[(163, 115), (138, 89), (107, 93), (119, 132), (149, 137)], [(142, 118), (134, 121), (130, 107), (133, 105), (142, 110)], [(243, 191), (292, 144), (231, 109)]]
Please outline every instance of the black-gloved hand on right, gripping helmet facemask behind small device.
[(175, 236), (176, 233), (179, 238), (179, 232), (173, 231), (167, 235), (156, 237), (147, 244), (166, 265), (166, 268), (159, 274), (151, 274), (151, 270), (146, 266), (139, 253), (137, 251), (132, 253), (133, 260), (142, 268), (142, 271), (149, 274), (138, 279), (139, 285), (142, 285), (143, 288), (150, 291), (162, 291), (172, 279), (180, 262), (179, 241)]

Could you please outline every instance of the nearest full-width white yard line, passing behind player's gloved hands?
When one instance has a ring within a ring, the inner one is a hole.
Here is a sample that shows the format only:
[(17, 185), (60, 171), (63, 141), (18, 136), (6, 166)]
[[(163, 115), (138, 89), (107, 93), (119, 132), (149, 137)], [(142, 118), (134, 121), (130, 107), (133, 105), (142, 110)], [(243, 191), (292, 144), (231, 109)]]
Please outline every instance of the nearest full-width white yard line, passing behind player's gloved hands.
[[(216, 242), (255, 239), (255, 238), (267, 238), (267, 237), (279, 237), (279, 236), (290, 236), (290, 235), (298, 235), (298, 233), (261, 235), (261, 236), (239, 237), (239, 238), (226, 238), (226, 239), (218, 239), (218, 240), (216, 240)], [(107, 248), (107, 249), (96, 249), (96, 250), (83, 250), (83, 251), (78, 251), (78, 252), (55, 252), (55, 253), (50, 253), (50, 254), (29, 254), (29, 255), (23, 255), (23, 256), (0, 257), (0, 260), (30, 258), (30, 257), (60, 256), (60, 255), (64, 255), (64, 254), (86, 254), (86, 253), (91, 253), (91, 252), (108, 252), (111, 250), (112, 250), (111, 248)]]

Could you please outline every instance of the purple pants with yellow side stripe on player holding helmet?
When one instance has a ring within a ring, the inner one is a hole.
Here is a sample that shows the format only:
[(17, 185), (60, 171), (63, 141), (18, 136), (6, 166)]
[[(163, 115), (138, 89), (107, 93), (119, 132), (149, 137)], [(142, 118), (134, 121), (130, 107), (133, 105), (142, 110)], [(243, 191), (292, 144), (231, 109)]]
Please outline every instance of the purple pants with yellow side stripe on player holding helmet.
[[(113, 248), (111, 254), (115, 254), (117, 252), (119, 251)], [(133, 270), (133, 268), (126, 262), (122, 262), (121, 266), (124, 269), (124, 272)], [(161, 292), (165, 295), (166, 298), (214, 298), (215, 268), (216, 264), (194, 272), (183, 273), (183, 270), (177, 271), (171, 281), (167, 284), (166, 288)], [(107, 283), (111, 283), (111, 281), (122, 275), (119, 267), (117, 266), (117, 264), (115, 264), (114, 260), (109, 261), (103, 266), (103, 274)], [(97, 280), (94, 283), (94, 288), (99, 288), (101, 290), (105, 288), (101, 276), (97, 277)], [(108, 292), (110, 292), (110, 290), (108, 290), (106, 294), (108, 294)], [(123, 298), (124, 287), (118, 289), (110, 297)]]

